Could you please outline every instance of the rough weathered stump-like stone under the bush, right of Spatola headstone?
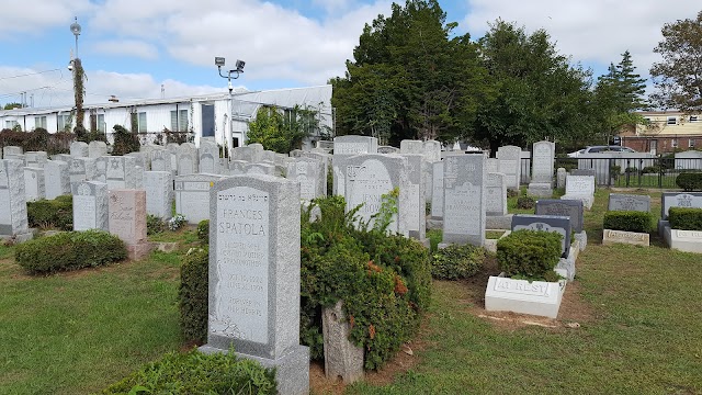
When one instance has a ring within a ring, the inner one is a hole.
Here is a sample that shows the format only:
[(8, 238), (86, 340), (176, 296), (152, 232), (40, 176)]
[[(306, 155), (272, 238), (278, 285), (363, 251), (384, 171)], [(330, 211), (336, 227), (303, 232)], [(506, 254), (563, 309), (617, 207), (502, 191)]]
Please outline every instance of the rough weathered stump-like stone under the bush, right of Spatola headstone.
[(321, 312), (325, 341), (325, 375), (349, 384), (363, 379), (363, 347), (349, 341), (351, 325), (343, 313), (343, 302)]

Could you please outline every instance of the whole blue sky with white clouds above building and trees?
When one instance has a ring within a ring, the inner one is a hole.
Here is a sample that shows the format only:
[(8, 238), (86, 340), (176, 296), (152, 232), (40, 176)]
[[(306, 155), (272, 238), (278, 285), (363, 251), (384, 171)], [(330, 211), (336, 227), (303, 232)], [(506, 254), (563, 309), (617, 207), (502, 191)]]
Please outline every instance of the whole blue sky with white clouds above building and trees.
[[(404, 4), (404, 2), (401, 2)], [(660, 29), (693, 19), (690, 0), (440, 0), (457, 34), (482, 37), (498, 18), (544, 29), (573, 64), (604, 74), (630, 50), (648, 77)], [(224, 69), (246, 61), (233, 81), (248, 90), (325, 84), (344, 63), (366, 23), (390, 14), (384, 0), (25, 0), (0, 5), (0, 104), (70, 105), (70, 31), (78, 18), (78, 57), (86, 103), (226, 92)]]

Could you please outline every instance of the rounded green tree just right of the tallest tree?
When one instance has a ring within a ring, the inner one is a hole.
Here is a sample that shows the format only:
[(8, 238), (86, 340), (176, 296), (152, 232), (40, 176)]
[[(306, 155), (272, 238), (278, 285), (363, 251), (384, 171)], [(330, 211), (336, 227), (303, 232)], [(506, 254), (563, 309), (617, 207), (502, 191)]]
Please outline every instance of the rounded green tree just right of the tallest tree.
[(591, 132), (590, 71), (570, 66), (544, 30), (526, 34), (497, 20), (478, 44), (489, 95), (478, 109), (474, 137), (491, 151), (541, 139), (570, 143)]

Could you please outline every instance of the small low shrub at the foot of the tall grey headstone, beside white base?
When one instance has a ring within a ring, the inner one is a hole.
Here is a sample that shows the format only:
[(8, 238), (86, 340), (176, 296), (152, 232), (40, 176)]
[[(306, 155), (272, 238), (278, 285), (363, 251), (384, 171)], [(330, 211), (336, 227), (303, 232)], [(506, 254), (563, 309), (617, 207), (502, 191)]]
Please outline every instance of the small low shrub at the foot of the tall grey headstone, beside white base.
[(467, 279), (485, 263), (486, 251), (472, 245), (451, 245), (433, 253), (431, 276), (439, 280)]

